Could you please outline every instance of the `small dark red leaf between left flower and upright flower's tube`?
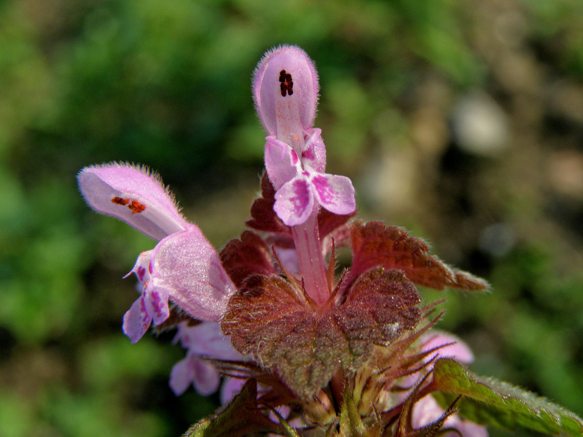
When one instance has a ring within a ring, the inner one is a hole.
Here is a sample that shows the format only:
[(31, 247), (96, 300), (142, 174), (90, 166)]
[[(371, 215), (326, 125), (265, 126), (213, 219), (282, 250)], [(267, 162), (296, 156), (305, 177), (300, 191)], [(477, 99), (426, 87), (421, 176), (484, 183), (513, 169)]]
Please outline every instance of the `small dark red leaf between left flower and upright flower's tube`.
[(269, 248), (255, 232), (244, 231), (241, 239), (231, 239), (220, 252), (220, 260), (231, 281), (240, 288), (251, 274), (275, 273)]

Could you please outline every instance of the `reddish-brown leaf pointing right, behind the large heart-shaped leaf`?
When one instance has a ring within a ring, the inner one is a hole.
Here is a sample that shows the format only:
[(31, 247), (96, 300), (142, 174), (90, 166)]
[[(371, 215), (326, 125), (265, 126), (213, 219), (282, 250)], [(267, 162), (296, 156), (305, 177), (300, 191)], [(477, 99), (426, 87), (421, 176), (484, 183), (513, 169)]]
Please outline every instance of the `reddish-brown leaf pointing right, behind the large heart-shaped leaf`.
[(486, 290), (488, 284), (470, 273), (454, 270), (429, 255), (429, 248), (407, 232), (379, 221), (355, 221), (352, 225), (353, 260), (346, 284), (375, 266), (399, 269), (409, 280), (421, 286), (442, 290)]

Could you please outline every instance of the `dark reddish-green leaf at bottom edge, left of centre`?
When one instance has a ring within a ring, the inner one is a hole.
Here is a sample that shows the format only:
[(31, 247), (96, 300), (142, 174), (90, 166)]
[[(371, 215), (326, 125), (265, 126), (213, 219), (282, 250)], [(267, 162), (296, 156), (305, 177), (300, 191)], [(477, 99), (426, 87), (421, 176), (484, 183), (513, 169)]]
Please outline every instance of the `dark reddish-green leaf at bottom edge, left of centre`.
[(206, 418), (188, 428), (182, 437), (259, 436), (281, 432), (257, 407), (257, 382), (250, 379), (231, 403), (215, 417)]

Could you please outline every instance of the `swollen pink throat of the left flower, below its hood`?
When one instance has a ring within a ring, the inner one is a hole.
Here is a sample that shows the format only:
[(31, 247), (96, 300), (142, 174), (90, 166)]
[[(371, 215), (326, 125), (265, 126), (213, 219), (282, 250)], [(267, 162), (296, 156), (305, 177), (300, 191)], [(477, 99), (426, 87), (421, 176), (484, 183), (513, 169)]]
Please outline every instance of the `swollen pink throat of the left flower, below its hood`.
[(160, 241), (150, 267), (154, 290), (165, 290), (196, 319), (217, 322), (236, 291), (215, 248), (195, 225)]

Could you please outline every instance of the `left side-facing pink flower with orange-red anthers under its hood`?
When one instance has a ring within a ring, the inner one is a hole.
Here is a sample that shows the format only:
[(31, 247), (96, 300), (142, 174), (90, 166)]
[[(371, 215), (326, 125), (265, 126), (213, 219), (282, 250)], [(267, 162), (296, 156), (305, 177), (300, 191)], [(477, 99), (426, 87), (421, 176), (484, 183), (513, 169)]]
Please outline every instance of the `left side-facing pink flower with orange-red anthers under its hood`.
[(123, 329), (132, 343), (152, 322), (168, 318), (169, 298), (196, 319), (219, 320), (236, 287), (215, 248), (178, 212), (159, 177), (143, 167), (114, 163), (83, 168), (78, 182), (94, 210), (159, 241), (138, 256), (130, 272), (143, 284), (142, 295), (124, 315)]

